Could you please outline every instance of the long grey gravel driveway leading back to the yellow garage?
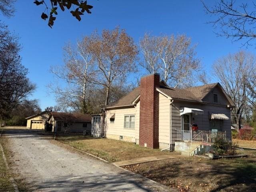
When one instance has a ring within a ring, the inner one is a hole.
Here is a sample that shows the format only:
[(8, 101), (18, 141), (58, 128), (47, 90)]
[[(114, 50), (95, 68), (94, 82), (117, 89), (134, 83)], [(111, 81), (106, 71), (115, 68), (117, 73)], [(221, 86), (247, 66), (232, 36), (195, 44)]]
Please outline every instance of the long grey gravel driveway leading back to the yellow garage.
[(165, 192), (152, 180), (54, 144), (38, 131), (4, 130), (12, 168), (40, 192)]

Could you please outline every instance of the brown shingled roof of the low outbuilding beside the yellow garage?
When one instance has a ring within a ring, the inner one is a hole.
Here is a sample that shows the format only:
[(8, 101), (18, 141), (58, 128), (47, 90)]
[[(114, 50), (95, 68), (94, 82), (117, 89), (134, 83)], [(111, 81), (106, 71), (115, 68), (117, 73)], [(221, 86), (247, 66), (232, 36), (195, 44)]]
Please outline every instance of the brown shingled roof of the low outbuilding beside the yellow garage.
[(49, 119), (53, 116), (56, 121), (91, 122), (92, 116), (82, 113), (51, 112)]

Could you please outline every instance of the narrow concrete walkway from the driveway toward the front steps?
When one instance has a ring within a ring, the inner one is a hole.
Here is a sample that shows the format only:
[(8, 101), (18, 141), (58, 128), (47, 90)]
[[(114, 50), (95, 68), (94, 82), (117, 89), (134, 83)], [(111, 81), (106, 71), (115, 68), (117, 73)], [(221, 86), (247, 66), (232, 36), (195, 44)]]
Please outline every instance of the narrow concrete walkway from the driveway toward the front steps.
[(148, 157), (141, 157), (141, 158), (134, 158), (130, 160), (124, 160), (124, 161), (118, 161), (114, 162), (112, 164), (116, 166), (126, 166), (126, 165), (133, 165), (133, 164), (139, 164), (139, 163), (145, 163), (145, 162), (150, 162), (150, 161), (158, 161), (158, 160), (164, 160), (164, 159), (172, 159), (172, 158), (180, 158), (182, 155), (176, 155), (176, 154), (171, 154), (171, 155), (160, 155), (160, 156), (148, 156)]

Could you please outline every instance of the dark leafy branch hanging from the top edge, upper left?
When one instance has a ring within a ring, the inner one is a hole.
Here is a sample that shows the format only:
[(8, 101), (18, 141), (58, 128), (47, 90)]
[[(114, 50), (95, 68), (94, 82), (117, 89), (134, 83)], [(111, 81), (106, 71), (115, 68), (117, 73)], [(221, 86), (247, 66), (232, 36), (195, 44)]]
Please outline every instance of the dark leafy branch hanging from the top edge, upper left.
[[(81, 20), (80, 16), (84, 15), (85, 11), (88, 14), (92, 13), (90, 9), (92, 9), (93, 6), (88, 5), (86, 0), (49, 0), (49, 1), (51, 4), (50, 8), (47, 6), (45, 0), (42, 0), (42, 1), (35, 0), (34, 4), (36, 4), (37, 6), (44, 5), (46, 7), (44, 12), (42, 12), (41, 18), (43, 20), (48, 19), (48, 26), (50, 28), (52, 28), (52, 26), (54, 25), (54, 21), (56, 20), (56, 15), (58, 15), (58, 12), (57, 12), (58, 7), (62, 11), (65, 11), (65, 8), (69, 10), (71, 7), (73, 7), (74, 10), (70, 11), (70, 13), (78, 21)], [(48, 13), (49, 9), (50, 9), (50, 14)]]

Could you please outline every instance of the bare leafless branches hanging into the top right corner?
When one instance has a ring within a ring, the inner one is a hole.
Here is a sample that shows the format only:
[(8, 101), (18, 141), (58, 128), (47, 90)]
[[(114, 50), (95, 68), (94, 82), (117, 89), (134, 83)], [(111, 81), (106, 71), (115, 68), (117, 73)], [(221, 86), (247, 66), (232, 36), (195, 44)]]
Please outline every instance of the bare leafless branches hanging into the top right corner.
[(202, 0), (206, 13), (216, 18), (208, 23), (214, 28), (220, 27), (218, 36), (232, 38), (233, 41), (243, 40), (243, 45), (251, 45), (250, 41), (256, 38), (254, 25), (256, 24), (256, 5), (254, 2), (237, 4), (234, 0), (219, 0), (212, 7)]

